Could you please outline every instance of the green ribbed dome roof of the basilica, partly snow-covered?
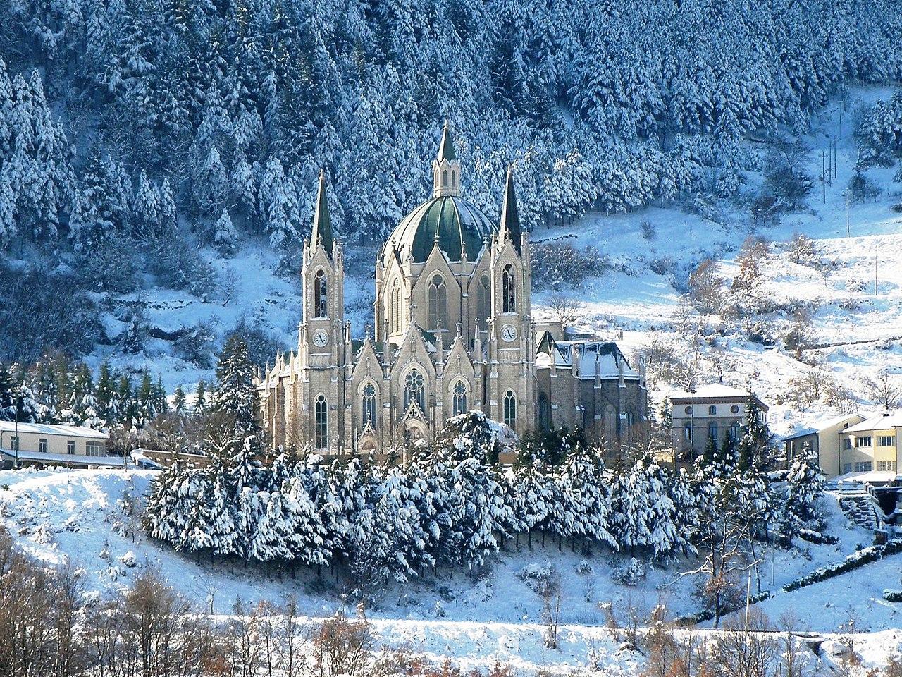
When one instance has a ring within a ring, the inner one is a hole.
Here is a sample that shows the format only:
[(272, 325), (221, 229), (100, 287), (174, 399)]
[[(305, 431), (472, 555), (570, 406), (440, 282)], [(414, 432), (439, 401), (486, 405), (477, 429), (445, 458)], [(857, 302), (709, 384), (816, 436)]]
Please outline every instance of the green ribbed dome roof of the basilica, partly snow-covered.
[(398, 252), (400, 260), (407, 255), (414, 263), (426, 262), (438, 236), (438, 247), (449, 261), (460, 261), (466, 253), (474, 261), (483, 249), (483, 239), (495, 230), (492, 221), (469, 200), (446, 195), (429, 199), (400, 220), (382, 249), (382, 264), (387, 256)]

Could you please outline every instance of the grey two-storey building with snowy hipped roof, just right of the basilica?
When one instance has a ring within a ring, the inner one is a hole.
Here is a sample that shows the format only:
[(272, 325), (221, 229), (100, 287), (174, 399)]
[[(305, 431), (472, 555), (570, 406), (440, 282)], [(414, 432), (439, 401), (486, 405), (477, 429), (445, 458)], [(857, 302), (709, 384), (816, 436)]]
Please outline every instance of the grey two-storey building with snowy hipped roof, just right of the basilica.
[[(708, 438), (720, 444), (729, 433), (739, 440), (750, 394), (730, 385), (701, 385), (693, 390), (675, 391), (670, 400), (671, 431), (676, 460), (689, 462), (704, 453)], [(764, 421), (768, 405), (755, 397)]]

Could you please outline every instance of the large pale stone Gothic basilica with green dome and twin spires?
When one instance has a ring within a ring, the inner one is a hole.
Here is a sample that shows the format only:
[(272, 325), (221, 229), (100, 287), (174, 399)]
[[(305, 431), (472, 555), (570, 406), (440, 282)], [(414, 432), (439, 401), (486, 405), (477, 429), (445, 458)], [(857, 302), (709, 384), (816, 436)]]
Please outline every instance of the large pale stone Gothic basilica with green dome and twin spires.
[(342, 246), (320, 174), (298, 350), (256, 379), (269, 441), (324, 455), (384, 454), (471, 410), (520, 436), (566, 425), (610, 448), (640, 441), (644, 367), (630, 366), (613, 343), (532, 319), (529, 236), (511, 171), (492, 220), (461, 196), (447, 125), (432, 170), (432, 198), (400, 220), (377, 255), (374, 336), (363, 341), (345, 321)]

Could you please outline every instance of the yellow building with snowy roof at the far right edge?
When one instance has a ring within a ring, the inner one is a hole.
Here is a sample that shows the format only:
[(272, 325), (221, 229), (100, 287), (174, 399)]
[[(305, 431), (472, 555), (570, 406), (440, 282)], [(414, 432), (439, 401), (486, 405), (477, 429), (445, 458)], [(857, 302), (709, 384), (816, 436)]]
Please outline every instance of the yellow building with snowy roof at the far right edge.
[(897, 473), (902, 447), (902, 410), (874, 414), (839, 433), (842, 475), (854, 472)]

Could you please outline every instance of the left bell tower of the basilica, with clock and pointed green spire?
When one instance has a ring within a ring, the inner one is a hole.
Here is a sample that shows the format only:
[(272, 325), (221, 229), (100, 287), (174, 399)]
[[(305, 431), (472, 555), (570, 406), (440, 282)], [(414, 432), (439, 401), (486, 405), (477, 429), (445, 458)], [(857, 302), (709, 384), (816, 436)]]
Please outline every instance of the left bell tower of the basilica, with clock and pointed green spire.
[(345, 264), (332, 233), (322, 171), (300, 274), (303, 311), (292, 375), (297, 378), (295, 410), (299, 413), (295, 439), (305, 449), (337, 453), (345, 411), (341, 369), (351, 355), (345, 327)]

